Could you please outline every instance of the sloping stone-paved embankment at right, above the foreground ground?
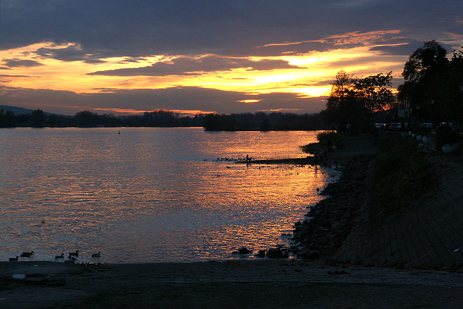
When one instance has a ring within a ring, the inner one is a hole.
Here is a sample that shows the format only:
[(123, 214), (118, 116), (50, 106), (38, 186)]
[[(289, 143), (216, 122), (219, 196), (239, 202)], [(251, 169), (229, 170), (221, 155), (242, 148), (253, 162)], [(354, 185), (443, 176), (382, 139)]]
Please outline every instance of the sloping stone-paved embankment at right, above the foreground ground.
[(381, 221), (374, 193), (367, 194), (337, 258), (372, 265), (463, 266), (463, 162), (458, 155), (427, 159), (438, 175), (436, 186)]

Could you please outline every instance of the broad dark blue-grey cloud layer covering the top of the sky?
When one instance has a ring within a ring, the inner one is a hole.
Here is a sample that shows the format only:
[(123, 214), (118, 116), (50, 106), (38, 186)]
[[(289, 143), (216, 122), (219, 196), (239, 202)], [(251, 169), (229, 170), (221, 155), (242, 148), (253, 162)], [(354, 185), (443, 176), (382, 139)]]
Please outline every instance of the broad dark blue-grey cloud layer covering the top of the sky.
[[(461, 34), (456, 22), (463, 11), (462, 1), (448, 0), (3, 0), (1, 4), (0, 49), (41, 41), (80, 44), (81, 53), (57, 55), (65, 61), (89, 54), (89, 61), (152, 54), (279, 55), (294, 50), (255, 47), (384, 29), (401, 29), (406, 37), (423, 37), (424, 42), (439, 40), (444, 32)], [(314, 42), (296, 51), (329, 47)]]

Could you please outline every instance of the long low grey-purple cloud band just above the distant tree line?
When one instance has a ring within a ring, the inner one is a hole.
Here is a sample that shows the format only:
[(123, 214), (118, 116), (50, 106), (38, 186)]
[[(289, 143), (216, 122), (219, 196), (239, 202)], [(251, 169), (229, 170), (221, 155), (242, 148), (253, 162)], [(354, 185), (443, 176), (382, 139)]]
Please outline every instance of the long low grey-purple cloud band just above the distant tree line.
[[(200, 87), (164, 89), (103, 89), (101, 93), (78, 94), (72, 91), (28, 89), (0, 86), (0, 102), (47, 112), (74, 115), (85, 109), (202, 110), (223, 114), (285, 109), (315, 113), (324, 107), (323, 98), (304, 98), (297, 93), (249, 95)], [(259, 100), (244, 103), (244, 100)]]

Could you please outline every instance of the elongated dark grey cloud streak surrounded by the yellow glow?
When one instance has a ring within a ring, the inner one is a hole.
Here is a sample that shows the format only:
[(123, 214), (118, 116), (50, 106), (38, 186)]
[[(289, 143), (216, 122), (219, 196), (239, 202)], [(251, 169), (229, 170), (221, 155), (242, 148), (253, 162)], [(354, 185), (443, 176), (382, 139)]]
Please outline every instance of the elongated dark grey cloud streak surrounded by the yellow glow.
[(157, 62), (149, 67), (133, 69), (114, 69), (88, 73), (87, 75), (111, 76), (167, 76), (199, 75), (199, 72), (230, 71), (244, 68), (248, 70), (299, 69), (284, 60), (252, 61), (240, 58), (205, 56), (200, 58), (177, 57), (169, 62)]

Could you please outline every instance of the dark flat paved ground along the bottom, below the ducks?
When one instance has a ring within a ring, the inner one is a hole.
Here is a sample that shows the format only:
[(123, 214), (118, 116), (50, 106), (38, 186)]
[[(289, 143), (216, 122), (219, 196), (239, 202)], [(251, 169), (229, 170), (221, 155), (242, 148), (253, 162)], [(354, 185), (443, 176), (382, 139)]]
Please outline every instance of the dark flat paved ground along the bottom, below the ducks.
[[(11, 279), (13, 274), (40, 274)], [(1, 308), (462, 308), (463, 274), (222, 261), (0, 262)], [(60, 281), (60, 280), (64, 280)]]

